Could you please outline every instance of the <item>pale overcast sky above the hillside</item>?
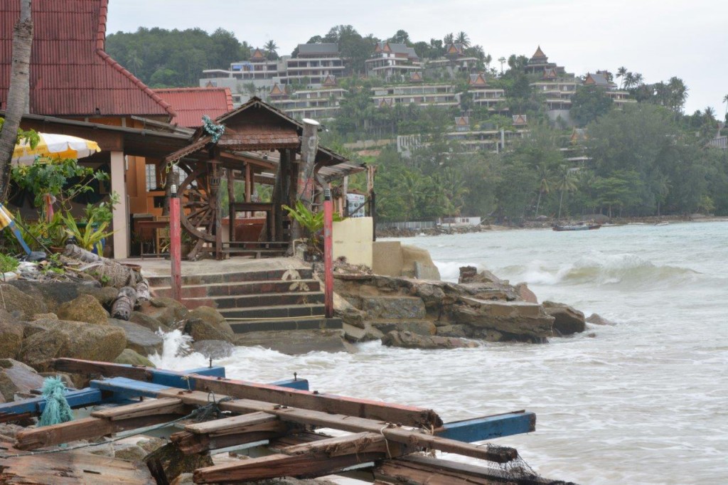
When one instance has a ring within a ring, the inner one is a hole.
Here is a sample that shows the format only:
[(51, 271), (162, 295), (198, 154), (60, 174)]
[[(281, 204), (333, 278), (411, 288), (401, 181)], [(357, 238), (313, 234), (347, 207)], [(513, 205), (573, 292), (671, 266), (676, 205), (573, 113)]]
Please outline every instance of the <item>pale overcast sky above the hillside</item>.
[(403, 29), (414, 42), (464, 31), (494, 60), (530, 58), (540, 44), (568, 72), (625, 66), (649, 83), (678, 76), (688, 113), (726, 111), (728, 0), (109, 0), (107, 33), (222, 27), (253, 47), (272, 39), (284, 55), (340, 24), (382, 39)]

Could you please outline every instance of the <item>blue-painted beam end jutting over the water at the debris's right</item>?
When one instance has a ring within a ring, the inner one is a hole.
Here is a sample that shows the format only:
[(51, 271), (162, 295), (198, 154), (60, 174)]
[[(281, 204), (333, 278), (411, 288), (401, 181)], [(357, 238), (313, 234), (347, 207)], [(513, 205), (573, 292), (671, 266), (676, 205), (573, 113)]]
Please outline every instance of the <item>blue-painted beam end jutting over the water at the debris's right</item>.
[(442, 438), (472, 443), (536, 430), (536, 414), (527, 411), (495, 414), (464, 421), (448, 422), (435, 429)]

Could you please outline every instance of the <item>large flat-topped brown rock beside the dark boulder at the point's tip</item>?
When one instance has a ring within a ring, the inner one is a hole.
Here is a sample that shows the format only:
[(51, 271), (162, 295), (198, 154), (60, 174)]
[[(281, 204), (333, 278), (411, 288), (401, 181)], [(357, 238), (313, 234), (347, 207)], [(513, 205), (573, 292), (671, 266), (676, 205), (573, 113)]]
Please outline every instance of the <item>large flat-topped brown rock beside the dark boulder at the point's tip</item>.
[(461, 297), (451, 308), (451, 320), (477, 331), (497, 331), (505, 340), (543, 342), (553, 335), (553, 317), (541, 305), (526, 301)]

